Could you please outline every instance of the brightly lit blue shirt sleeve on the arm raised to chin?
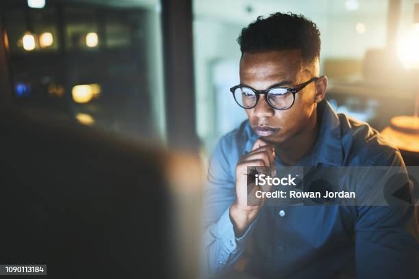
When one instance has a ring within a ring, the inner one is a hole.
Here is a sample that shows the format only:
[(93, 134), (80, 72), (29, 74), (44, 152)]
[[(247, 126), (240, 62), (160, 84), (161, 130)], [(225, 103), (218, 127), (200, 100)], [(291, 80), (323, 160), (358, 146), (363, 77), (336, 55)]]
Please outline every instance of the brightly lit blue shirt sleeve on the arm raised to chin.
[(249, 226), (242, 237), (236, 238), (229, 213), (236, 200), (235, 174), (232, 173), (236, 165), (232, 166), (229, 162), (236, 160), (238, 155), (232, 153), (231, 146), (221, 139), (210, 160), (203, 196), (201, 275), (204, 278), (219, 276), (236, 263), (256, 222)]

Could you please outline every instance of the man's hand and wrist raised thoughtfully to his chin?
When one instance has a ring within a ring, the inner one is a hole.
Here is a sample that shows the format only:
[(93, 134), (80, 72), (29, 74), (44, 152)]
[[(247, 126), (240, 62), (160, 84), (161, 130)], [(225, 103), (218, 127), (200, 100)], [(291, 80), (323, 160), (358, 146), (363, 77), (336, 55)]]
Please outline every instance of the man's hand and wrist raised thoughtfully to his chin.
[[(263, 139), (257, 139), (255, 144), (253, 144), (251, 152), (240, 158), (236, 165), (237, 200), (230, 207), (230, 217), (236, 237), (240, 237), (246, 231), (264, 204), (264, 200), (260, 200), (260, 203), (257, 205), (248, 205), (247, 168), (268, 167), (273, 175), (275, 173), (274, 158), (275, 149), (264, 142)], [(257, 186), (253, 187), (251, 193), (254, 193), (257, 189)]]

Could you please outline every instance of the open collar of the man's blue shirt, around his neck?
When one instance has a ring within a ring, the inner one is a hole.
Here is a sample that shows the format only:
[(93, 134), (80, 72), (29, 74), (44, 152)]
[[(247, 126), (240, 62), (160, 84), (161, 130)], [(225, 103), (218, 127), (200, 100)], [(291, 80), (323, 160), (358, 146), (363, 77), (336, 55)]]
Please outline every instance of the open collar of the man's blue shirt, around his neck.
[[(326, 100), (318, 103), (318, 120), (320, 126), (318, 138), (313, 151), (307, 155), (311, 157), (312, 165), (322, 163), (325, 165), (342, 165), (342, 139), (340, 134), (340, 122), (338, 115), (331, 108)], [(245, 150), (250, 152), (257, 139), (256, 133), (251, 129), (249, 122), (246, 125), (249, 140), (246, 142)], [(307, 157), (301, 161), (306, 161)]]

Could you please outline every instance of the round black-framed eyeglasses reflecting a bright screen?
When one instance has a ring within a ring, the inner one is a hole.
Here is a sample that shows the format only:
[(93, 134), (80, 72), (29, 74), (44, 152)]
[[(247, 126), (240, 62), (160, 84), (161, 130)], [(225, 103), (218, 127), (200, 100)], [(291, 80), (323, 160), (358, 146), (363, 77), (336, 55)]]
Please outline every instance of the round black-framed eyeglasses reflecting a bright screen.
[(309, 83), (316, 81), (319, 77), (313, 77), (305, 83), (301, 83), (296, 88), (274, 86), (267, 90), (255, 90), (242, 84), (230, 88), (236, 103), (244, 109), (253, 109), (259, 101), (260, 95), (265, 94), (266, 101), (273, 109), (285, 110), (294, 105), (295, 94), (303, 90)]

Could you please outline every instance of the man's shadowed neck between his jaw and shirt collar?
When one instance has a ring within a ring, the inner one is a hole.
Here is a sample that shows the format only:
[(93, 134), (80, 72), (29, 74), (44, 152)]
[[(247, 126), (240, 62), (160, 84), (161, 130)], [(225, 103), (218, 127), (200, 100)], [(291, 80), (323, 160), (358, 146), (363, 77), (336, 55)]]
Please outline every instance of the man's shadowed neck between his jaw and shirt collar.
[(318, 136), (317, 109), (312, 117), (307, 120), (303, 129), (293, 135), (290, 139), (275, 145), (277, 154), (284, 165), (295, 165), (301, 159), (312, 152)]

